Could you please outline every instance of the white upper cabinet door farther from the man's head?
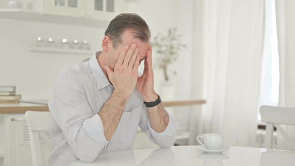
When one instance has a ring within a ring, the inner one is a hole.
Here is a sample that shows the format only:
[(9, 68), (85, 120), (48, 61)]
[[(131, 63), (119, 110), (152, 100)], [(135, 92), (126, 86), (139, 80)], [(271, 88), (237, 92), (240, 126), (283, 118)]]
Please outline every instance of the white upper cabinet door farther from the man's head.
[(69, 15), (83, 16), (86, 7), (86, 0), (45, 0), (45, 12)]

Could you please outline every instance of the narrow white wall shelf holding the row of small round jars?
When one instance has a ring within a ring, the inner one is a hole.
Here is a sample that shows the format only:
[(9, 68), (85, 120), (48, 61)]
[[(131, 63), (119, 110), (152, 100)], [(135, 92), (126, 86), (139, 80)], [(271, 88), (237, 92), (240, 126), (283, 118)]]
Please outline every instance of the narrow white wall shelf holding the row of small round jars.
[(92, 55), (94, 52), (90, 50), (81, 49), (62, 49), (62, 48), (44, 48), (44, 47), (31, 47), (27, 49), (31, 52), (47, 52), (47, 53), (63, 53), (63, 54), (83, 54)]

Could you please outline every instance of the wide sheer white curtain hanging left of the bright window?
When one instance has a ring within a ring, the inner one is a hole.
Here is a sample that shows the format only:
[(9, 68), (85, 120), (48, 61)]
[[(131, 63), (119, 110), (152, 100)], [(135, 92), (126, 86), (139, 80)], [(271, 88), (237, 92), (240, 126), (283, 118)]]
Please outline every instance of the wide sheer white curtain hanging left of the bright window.
[(202, 132), (254, 146), (263, 47), (264, 0), (203, 0)]

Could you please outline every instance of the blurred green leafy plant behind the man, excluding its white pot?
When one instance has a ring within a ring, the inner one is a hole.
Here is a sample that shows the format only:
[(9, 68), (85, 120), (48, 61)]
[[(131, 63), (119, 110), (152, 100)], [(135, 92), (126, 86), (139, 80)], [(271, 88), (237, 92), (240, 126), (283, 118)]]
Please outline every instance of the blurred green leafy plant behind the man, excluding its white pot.
[(177, 60), (179, 52), (186, 47), (181, 42), (181, 34), (177, 34), (177, 28), (171, 27), (166, 35), (158, 33), (151, 41), (152, 48), (156, 51), (154, 64), (156, 68), (163, 71), (164, 80), (169, 80), (169, 73), (176, 75), (176, 71), (168, 72), (168, 65)]

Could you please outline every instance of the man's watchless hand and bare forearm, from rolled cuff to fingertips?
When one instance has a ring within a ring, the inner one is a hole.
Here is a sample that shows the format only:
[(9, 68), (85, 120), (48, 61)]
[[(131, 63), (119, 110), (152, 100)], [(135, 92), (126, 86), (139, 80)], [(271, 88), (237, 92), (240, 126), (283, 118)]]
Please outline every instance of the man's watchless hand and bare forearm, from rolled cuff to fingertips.
[(137, 53), (135, 44), (132, 44), (130, 48), (125, 46), (113, 71), (109, 66), (104, 66), (108, 79), (114, 86), (111, 96), (98, 112), (106, 140), (110, 140), (116, 130), (127, 98), (135, 88), (139, 65)]

